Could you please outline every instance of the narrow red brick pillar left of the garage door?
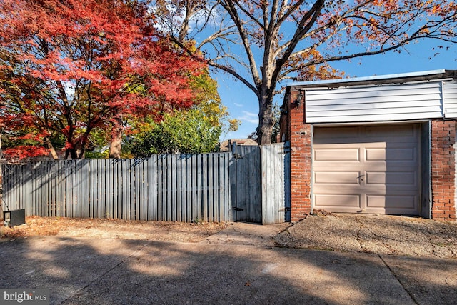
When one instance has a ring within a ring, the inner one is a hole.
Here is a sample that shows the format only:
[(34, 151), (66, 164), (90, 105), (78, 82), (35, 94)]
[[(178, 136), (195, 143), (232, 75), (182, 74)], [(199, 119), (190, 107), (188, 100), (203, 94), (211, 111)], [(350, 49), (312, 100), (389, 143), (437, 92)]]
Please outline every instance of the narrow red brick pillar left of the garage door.
[[(291, 93), (290, 101), (296, 94)], [(288, 139), (291, 141), (291, 221), (311, 213), (311, 124), (304, 124), (304, 101), (288, 109)]]

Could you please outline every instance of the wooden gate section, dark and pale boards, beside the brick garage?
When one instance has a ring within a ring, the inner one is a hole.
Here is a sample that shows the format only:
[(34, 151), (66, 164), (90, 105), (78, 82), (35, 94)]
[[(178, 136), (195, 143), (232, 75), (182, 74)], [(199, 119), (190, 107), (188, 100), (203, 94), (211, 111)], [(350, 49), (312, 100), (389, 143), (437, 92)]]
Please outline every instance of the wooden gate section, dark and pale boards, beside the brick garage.
[(232, 146), (233, 221), (276, 224), (290, 221), (288, 143)]

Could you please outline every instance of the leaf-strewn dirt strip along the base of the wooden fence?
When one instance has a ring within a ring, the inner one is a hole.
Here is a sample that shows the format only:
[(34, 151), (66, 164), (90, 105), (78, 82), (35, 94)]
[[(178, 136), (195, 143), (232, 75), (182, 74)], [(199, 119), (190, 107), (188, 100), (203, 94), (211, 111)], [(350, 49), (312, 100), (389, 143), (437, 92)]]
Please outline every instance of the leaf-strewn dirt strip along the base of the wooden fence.
[(26, 224), (0, 228), (1, 241), (28, 236), (66, 236), (97, 239), (141, 239), (196, 243), (216, 234), (230, 223), (183, 223), (124, 221), (119, 219), (72, 219), (26, 217)]

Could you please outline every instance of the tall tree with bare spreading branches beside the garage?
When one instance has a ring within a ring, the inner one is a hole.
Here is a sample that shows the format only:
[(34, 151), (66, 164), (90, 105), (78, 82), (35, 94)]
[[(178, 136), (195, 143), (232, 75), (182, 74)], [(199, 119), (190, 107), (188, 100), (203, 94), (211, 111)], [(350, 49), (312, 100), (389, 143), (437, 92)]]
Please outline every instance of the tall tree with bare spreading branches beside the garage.
[[(421, 39), (457, 41), (457, 4), (449, 0), (156, 2), (162, 31), (256, 94), (261, 144), (271, 141), (281, 81), (327, 79), (338, 74), (333, 61), (399, 52)], [(199, 41), (197, 53), (183, 36)]]

